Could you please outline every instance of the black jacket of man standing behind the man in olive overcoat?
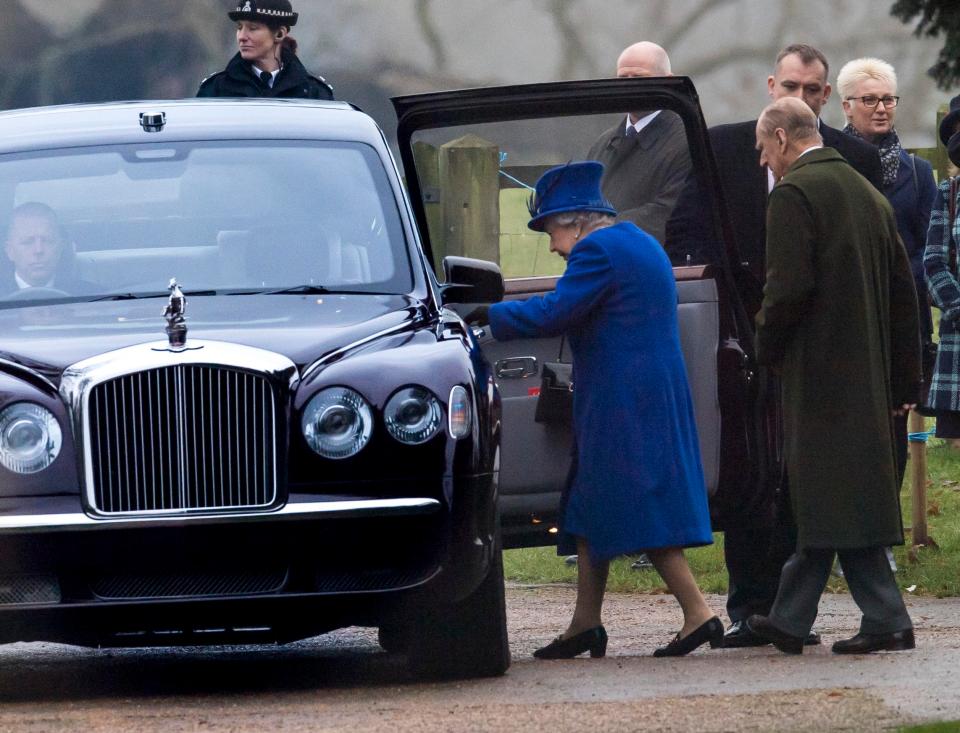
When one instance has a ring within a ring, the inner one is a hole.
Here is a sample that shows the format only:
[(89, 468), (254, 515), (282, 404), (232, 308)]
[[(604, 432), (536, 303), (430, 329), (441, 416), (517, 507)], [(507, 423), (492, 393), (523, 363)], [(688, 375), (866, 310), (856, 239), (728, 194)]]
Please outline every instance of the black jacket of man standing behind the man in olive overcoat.
[[(740, 252), (760, 282), (766, 277), (767, 169), (760, 167), (757, 121), (711, 127), (710, 144), (720, 173), (730, 223)], [(820, 123), (823, 144), (834, 148), (860, 175), (882, 190), (883, 178), (877, 149), (863, 140)]]

